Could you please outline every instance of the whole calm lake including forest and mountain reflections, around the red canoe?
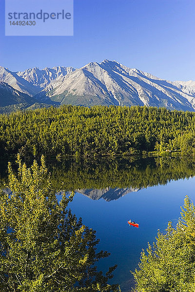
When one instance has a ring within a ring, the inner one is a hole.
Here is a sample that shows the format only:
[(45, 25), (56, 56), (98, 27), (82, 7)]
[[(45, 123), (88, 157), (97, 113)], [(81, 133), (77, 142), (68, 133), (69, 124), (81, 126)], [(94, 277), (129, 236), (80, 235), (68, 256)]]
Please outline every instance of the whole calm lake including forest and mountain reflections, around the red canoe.
[[(53, 184), (76, 191), (69, 204), (83, 223), (97, 231), (98, 250), (111, 256), (98, 263), (106, 272), (117, 264), (113, 283), (131, 291), (142, 248), (155, 241), (169, 220), (176, 226), (188, 195), (195, 201), (195, 158), (104, 159), (49, 164)], [(1, 172), (2, 176), (3, 171)], [(130, 227), (127, 220), (139, 223)]]

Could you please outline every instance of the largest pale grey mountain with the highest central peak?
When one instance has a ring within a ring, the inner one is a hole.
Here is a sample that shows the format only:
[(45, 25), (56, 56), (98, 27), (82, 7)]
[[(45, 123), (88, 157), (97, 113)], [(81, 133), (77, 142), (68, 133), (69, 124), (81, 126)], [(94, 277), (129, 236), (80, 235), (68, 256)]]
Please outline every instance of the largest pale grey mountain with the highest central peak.
[(89, 63), (57, 78), (36, 98), (42, 101), (46, 96), (59, 104), (84, 106), (146, 105), (194, 111), (195, 105), (195, 96), (173, 82), (109, 60)]

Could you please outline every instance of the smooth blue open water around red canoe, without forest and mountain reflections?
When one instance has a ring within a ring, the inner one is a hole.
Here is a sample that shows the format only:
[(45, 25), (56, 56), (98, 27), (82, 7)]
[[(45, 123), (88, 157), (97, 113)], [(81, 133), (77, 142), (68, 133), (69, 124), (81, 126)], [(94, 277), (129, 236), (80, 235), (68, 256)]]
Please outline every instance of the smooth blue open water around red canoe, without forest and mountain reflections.
[[(176, 226), (185, 196), (195, 201), (194, 190), (195, 178), (190, 178), (130, 192), (116, 201), (95, 201), (76, 193), (69, 207), (83, 224), (97, 231), (98, 250), (111, 253), (98, 268), (105, 272), (117, 264), (111, 282), (119, 283), (126, 292), (133, 285), (130, 270), (138, 267), (142, 248), (155, 241), (157, 229), (163, 232), (169, 220)], [(139, 228), (129, 226), (129, 219), (139, 223)]]

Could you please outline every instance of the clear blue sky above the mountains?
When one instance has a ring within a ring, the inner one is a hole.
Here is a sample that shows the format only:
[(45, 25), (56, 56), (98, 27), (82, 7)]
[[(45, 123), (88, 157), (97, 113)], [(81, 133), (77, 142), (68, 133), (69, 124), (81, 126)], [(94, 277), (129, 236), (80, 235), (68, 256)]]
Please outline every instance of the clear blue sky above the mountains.
[(1, 66), (79, 68), (103, 59), (195, 80), (195, 0), (74, 0), (73, 37), (5, 37), (0, 0)]

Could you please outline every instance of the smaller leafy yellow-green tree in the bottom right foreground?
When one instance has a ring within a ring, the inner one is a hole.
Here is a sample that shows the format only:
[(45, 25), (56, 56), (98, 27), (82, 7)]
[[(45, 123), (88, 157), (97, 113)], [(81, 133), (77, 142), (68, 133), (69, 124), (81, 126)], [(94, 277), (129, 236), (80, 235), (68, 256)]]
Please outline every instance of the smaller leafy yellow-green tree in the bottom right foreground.
[(166, 233), (141, 253), (134, 274), (137, 292), (195, 291), (195, 206), (186, 196), (176, 229), (169, 222)]

